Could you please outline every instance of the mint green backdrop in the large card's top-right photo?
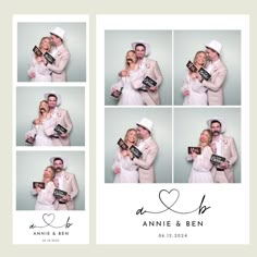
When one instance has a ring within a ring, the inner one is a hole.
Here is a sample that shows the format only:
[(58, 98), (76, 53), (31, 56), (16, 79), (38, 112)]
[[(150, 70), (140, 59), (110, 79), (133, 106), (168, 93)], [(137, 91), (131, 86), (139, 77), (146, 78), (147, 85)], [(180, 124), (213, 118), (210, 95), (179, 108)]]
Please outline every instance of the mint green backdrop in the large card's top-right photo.
[(240, 30), (174, 30), (174, 105), (183, 105), (181, 87), (188, 60), (206, 50), (212, 39), (222, 44), (221, 60), (228, 69), (223, 84), (224, 105), (241, 105), (241, 32)]

